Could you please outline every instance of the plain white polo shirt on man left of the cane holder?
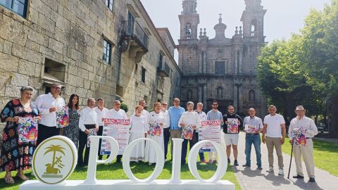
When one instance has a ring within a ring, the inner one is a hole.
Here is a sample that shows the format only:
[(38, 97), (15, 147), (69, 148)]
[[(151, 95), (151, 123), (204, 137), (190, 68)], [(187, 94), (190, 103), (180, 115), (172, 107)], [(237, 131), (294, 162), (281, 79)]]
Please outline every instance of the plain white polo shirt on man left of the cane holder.
[(276, 113), (276, 115), (266, 115), (264, 118), (264, 124), (268, 125), (266, 128), (266, 137), (280, 138), (282, 137), (282, 127), (280, 125), (285, 124), (282, 115)]

